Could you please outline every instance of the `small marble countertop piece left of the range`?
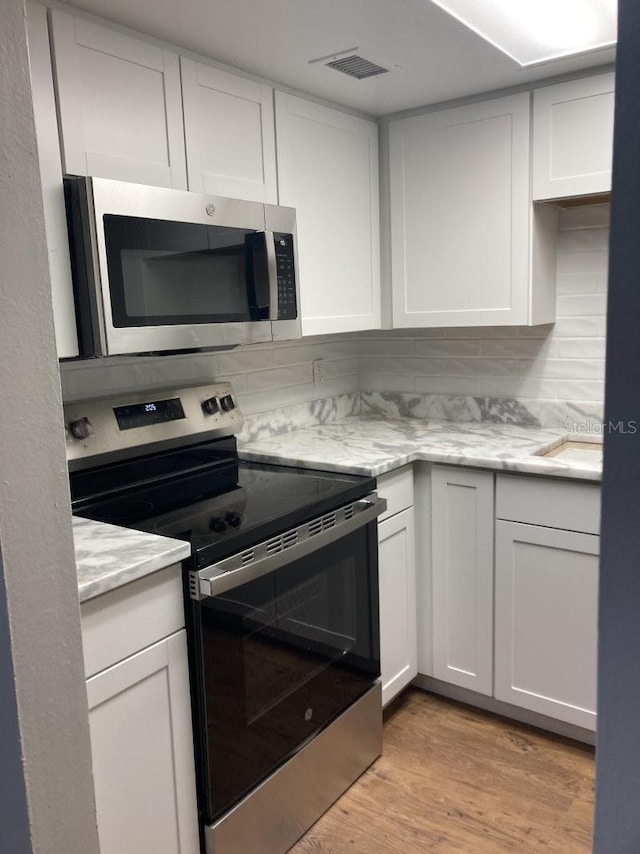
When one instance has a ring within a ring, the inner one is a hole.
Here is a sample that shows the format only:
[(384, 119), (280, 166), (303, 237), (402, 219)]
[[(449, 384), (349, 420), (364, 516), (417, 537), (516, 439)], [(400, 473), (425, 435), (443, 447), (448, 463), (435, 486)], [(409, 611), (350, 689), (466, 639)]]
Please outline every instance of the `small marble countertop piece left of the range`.
[(73, 536), (80, 602), (178, 563), (191, 552), (182, 540), (77, 516)]

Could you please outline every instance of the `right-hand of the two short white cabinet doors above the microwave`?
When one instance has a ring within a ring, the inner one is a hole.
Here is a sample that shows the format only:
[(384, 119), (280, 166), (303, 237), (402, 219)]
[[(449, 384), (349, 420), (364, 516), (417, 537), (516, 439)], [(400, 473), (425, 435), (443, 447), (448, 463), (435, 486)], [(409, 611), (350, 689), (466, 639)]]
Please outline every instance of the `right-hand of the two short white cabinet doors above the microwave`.
[(277, 204), (273, 90), (180, 58), (189, 189)]

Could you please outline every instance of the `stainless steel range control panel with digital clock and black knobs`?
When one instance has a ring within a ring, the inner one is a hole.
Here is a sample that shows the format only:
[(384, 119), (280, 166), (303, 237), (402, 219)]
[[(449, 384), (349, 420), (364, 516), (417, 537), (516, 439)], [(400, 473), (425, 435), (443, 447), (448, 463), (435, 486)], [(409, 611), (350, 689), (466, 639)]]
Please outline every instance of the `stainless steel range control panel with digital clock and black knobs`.
[(243, 418), (230, 383), (137, 392), (64, 407), (67, 462), (71, 469), (173, 440), (233, 436)]

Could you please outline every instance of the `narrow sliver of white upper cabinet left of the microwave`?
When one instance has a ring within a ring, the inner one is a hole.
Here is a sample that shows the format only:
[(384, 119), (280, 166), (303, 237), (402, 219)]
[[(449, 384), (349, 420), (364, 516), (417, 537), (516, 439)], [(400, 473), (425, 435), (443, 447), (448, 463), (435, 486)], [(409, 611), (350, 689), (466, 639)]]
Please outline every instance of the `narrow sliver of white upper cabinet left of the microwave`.
[(53, 91), (47, 10), (27, 3), (29, 63), (33, 90), (33, 117), (38, 138), (38, 160), (49, 252), (49, 274), (56, 347), (60, 359), (78, 355), (78, 333), (73, 301), (67, 215), (62, 190), (60, 141)]

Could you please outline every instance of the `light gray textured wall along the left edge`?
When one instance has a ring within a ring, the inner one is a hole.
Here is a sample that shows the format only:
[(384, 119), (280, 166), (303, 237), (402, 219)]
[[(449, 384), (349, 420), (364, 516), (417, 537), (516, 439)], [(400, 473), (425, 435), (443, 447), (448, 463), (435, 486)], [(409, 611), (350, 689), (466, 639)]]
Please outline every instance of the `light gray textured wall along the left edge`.
[(97, 854), (24, 0), (0, 2), (0, 851)]

